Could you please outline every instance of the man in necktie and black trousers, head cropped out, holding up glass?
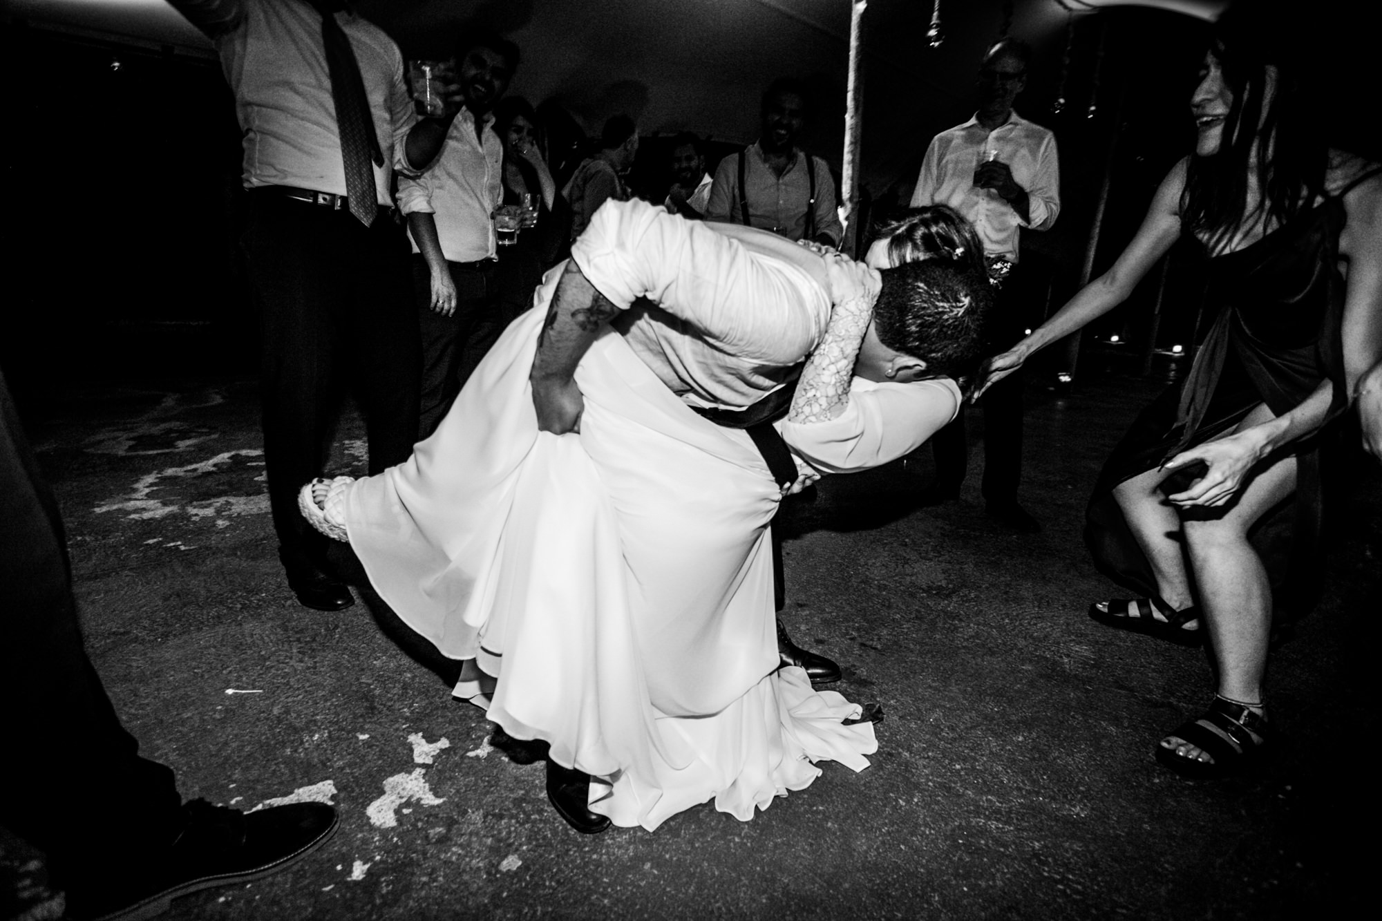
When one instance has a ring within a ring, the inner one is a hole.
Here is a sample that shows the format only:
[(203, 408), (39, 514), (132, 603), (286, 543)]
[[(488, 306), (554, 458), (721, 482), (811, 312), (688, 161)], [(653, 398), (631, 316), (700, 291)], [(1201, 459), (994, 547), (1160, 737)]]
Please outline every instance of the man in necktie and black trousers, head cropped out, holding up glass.
[[(417, 315), (391, 176), (437, 156), (455, 112), (417, 119), (394, 41), (333, 0), (173, 0), (214, 43), (245, 140), (245, 253), (263, 317), (264, 463), (279, 557), (307, 607), (354, 603), (326, 575), (296, 485), (322, 472), (343, 379), (369, 467), (417, 434)], [(445, 87), (455, 97), (456, 87)]]

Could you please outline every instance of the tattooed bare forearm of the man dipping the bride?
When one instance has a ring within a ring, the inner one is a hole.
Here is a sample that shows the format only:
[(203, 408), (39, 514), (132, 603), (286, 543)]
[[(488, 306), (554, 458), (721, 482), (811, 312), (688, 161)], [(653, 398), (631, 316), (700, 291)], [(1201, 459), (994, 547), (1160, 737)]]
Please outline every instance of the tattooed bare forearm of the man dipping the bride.
[(576, 387), (576, 365), (616, 313), (619, 308), (596, 290), (575, 260), (568, 260), (538, 336), (538, 354), (529, 373), (542, 431), (580, 430), (586, 402)]

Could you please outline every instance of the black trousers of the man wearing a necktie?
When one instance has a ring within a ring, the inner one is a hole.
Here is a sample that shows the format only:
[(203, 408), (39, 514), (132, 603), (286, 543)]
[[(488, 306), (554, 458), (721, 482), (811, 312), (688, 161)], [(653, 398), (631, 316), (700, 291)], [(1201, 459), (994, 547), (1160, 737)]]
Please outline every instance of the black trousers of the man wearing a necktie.
[(344, 383), (365, 413), (369, 473), (402, 463), (417, 436), (417, 313), (408, 239), (380, 209), (365, 228), (347, 210), (250, 191), (245, 253), (261, 314), (264, 463), (279, 555), (321, 568), (325, 538), (297, 491), (325, 472)]

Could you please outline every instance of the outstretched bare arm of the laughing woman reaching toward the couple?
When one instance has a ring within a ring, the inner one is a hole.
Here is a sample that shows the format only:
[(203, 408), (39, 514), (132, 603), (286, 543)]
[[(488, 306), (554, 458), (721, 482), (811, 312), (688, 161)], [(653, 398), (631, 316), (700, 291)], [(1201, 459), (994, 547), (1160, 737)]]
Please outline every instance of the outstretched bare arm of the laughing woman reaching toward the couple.
[(1034, 329), (1016, 346), (994, 355), (978, 369), (978, 383), (970, 400), (978, 400), (991, 386), (1023, 366), (1032, 354), (1103, 317), (1132, 293), (1157, 260), (1166, 254), (1180, 236), (1180, 191), (1186, 183), (1186, 163), (1177, 163), (1161, 181), (1147, 217), (1137, 235), (1103, 275), (1089, 282), (1057, 310), (1050, 319)]

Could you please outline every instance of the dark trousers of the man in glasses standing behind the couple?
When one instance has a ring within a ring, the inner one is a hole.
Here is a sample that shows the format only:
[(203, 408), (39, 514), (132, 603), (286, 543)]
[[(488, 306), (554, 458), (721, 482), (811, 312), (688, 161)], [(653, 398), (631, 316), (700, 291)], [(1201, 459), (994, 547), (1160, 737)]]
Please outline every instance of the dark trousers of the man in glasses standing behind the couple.
[[(1010, 347), (1023, 337), (1025, 301), (1017, 267), (1009, 274), (994, 303), (992, 347), (990, 354)], [(984, 409), (984, 499), (991, 505), (1017, 501), (1023, 476), (1023, 372), (1003, 378), (988, 389), (978, 405)], [(936, 455), (936, 490), (959, 492), (969, 466), (965, 433), (965, 404), (955, 420), (931, 436)]]

